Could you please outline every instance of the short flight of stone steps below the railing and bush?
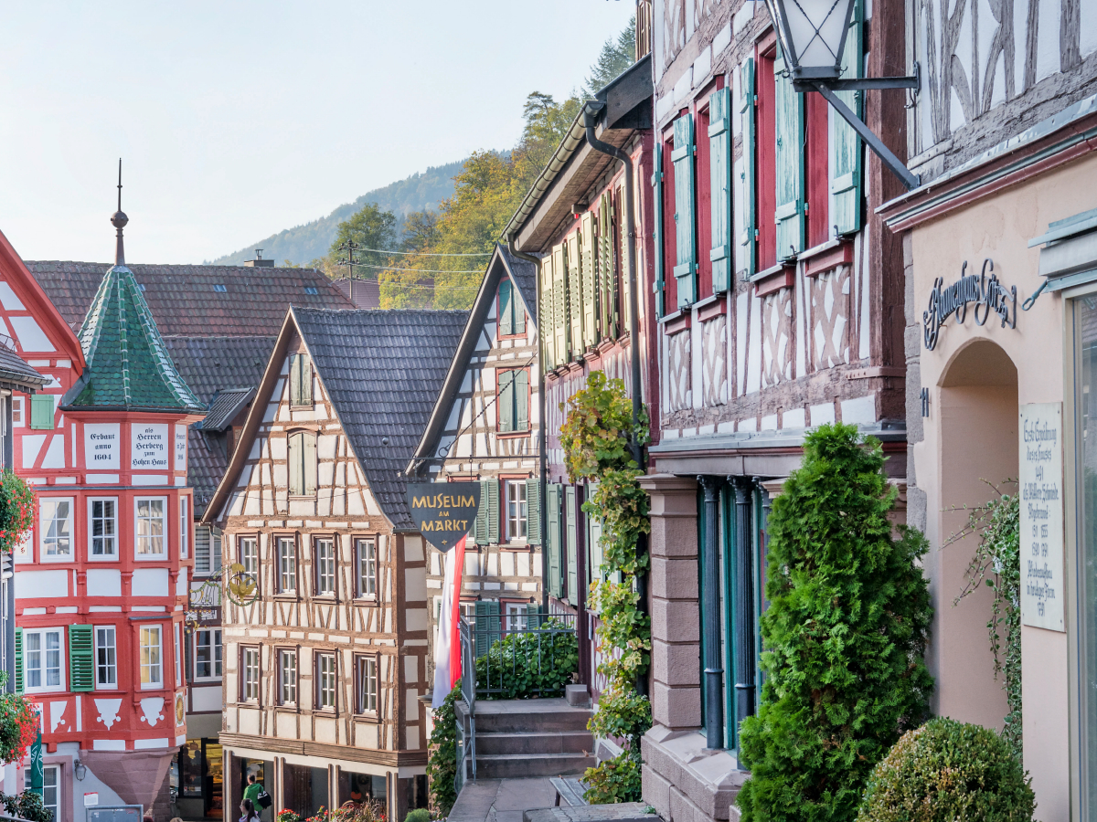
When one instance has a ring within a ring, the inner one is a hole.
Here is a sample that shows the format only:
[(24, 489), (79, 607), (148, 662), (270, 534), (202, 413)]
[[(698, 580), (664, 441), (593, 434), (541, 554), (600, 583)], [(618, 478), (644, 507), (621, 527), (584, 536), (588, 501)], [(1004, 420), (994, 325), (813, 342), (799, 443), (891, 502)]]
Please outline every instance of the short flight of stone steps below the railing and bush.
[[(583, 774), (597, 764), (588, 719), (564, 699), (477, 700), (476, 778)], [(461, 701), (457, 721), (467, 721)]]

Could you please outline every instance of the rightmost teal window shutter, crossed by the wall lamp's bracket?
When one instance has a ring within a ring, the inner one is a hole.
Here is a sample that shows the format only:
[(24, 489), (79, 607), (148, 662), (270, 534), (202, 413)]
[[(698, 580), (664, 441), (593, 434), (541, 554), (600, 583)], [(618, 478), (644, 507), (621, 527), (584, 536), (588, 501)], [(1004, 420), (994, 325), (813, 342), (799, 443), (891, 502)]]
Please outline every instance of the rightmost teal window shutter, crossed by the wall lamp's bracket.
[[(860, 3), (853, 5), (853, 18), (846, 35), (846, 52), (841, 58), (841, 76), (861, 76), (862, 33)], [(863, 116), (863, 94), (856, 91), (835, 92), (858, 117)], [(863, 151), (857, 132), (841, 117), (830, 116), (829, 168), (830, 212), (828, 222), (837, 226), (839, 235), (850, 235), (861, 228), (861, 161)]]

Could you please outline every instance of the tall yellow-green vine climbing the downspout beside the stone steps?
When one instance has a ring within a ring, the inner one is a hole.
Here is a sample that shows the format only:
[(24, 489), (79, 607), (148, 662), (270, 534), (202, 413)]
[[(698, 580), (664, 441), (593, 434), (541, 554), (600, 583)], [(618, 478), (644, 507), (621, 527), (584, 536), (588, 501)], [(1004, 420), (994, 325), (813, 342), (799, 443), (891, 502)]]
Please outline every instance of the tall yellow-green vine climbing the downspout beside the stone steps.
[(640, 607), (635, 584), (649, 559), (636, 548), (652, 526), (648, 496), (640, 487), (643, 471), (631, 449), (647, 442), (648, 418), (643, 411), (634, 425), (624, 383), (600, 372), (592, 372), (587, 387), (566, 407), (561, 403), (561, 410), (567, 412), (561, 445), (568, 480), (598, 483), (583, 510), (601, 523), (601, 573), (620, 580), (590, 585), (590, 607), (601, 620), (598, 672), (607, 687), (587, 727), (596, 735), (621, 740), (623, 751), (587, 769), (585, 797), (593, 803), (633, 802), (641, 798), (640, 739), (652, 727), (651, 703), (636, 690), (636, 678), (652, 657), (651, 619)]

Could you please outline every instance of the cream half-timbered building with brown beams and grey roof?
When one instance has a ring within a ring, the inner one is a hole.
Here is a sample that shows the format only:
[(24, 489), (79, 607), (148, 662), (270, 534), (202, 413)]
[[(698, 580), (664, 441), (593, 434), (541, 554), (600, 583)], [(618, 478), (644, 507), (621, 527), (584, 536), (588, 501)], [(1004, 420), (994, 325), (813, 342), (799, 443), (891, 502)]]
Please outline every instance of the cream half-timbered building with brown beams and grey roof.
[(286, 318), (207, 514), (258, 583), (224, 603), (226, 813), (250, 773), (302, 814), (426, 802), (427, 569), (400, 471), (466, 316)]

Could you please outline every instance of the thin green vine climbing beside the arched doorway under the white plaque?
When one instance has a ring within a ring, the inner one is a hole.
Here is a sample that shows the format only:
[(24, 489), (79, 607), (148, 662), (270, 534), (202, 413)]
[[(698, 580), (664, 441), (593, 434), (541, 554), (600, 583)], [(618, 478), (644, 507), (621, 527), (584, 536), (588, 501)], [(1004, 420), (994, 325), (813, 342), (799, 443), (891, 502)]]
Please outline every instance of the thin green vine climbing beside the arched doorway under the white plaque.
[[(983, 480), (986, 482), (986, 480)], [(1002, 674), (1003, 688), (1009, 713), (1005, 718), (1002, 735), (1021, 757), (1021, 553), (1020, 553), (1020, 494), (1003, 493), (986, 482), (994, 499), (976, 509), (949, 509), (968, 511), (968, 524), (951, 535), (942, 548), (964, 537), (979, 534), (980, 543), (971, 558), (965, 575), (968, 582), (953, 601), (953, 606), (985, 583), (994, 590), (991, 618), (986, 630), (994, 653), (994, 676)], [(1017, 480), (1004, 484), (1016, 486)]]

